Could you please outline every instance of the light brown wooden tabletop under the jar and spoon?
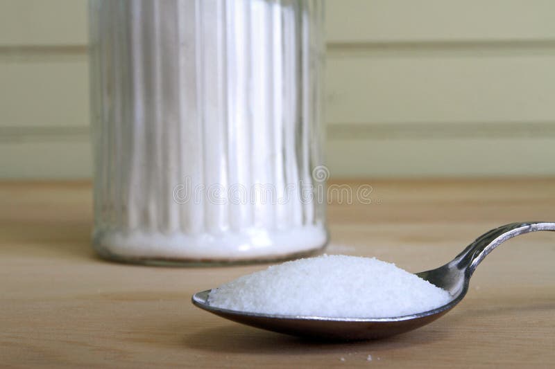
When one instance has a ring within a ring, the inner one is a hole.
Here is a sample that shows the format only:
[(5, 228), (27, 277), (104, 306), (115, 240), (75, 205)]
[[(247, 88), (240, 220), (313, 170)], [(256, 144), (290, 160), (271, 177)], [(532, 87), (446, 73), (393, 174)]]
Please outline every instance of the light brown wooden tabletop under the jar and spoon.
[[(360, 181), (372, 204), (331, 204), (327, 253), (409, 271), (509, 222), (555, 219), (555, 179)], [(356, 202), (356, 201), (355, 201)], [(515, 238), (439, 321), (391, 339), (318, 343), (197, 309), (194, 291), (266, 265), (115, 264), (89, 246), (89, 183), (0, 184), (0, 366), (480, 368), (555, 365), (555, 234)], [(368, 355), (372, 361), (367, 361)]]

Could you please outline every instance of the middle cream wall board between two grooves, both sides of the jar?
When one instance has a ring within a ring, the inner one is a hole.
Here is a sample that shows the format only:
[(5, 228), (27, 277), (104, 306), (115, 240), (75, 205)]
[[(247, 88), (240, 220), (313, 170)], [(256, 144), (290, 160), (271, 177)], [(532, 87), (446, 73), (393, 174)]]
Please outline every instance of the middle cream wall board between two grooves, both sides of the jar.
[[(327, 60), (331, 125), (551, 122), (555, 55), (337, 57)], [(0, 127), (88, 125), (86, 55), (3, 62)]]

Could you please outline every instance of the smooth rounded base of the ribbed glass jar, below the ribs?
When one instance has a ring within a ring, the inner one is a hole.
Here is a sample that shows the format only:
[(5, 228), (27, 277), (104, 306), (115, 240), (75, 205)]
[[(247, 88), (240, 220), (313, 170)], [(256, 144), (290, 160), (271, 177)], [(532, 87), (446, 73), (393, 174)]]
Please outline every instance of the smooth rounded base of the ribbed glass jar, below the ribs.
[(249, 230), (221, 235), (145, 231), (103, 231), (93, 235), (94, 249), (101, 258), (159, 266), (288, 260), (321, 251), (327, 241), (327, 231), (323, 226), (273, 232)]

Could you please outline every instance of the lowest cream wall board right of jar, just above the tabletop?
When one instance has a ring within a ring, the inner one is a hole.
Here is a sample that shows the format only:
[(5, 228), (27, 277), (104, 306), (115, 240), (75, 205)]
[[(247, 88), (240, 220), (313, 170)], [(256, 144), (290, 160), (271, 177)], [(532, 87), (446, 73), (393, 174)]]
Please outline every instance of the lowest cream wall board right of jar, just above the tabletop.
[[(339, 177), (553, 176), (555, 137), (335, 139), (327, 143), (330, 173)], [(348, 157), (349, 160), (345, 160)], [(441, 168), (441, 170), (438, 170)]]

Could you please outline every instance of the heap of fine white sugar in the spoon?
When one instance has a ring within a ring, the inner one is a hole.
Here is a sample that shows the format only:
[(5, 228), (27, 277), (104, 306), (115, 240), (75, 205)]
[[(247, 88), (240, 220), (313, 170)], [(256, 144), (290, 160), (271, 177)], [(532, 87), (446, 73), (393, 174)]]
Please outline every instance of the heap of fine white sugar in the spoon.
[(440, 307), (450, 294), (375, 258), (323, 255), (269, 267), (212, 289), (208, 303), (262, 314), (385, 318)]

